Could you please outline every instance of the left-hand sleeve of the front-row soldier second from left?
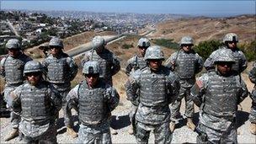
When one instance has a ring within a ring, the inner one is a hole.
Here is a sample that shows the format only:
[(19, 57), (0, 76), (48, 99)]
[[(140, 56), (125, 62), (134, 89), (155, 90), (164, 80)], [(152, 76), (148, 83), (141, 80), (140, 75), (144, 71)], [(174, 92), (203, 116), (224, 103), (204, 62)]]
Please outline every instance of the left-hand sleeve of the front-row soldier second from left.
[(69, 109), (76, 109), (78, 110), (78, 88), (79, 88), (79, 84), (75, 87), (72, 88), (71, 91), (67, 94), (67, 105), (66, 105), (66, 110), (67, 112), (69, 111)]

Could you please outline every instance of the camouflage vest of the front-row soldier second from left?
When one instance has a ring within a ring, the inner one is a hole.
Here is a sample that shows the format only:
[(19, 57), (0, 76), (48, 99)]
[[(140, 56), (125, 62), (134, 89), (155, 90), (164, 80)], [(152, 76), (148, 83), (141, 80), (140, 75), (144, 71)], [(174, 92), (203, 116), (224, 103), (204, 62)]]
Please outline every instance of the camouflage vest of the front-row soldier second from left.
[(104, 102), (104, 83), (99, 83), (99, 88), (88, 88), (86, 82), (78, 88), (78, 118), (83, 125), (97, 125), (108, 117), (107, 105)]

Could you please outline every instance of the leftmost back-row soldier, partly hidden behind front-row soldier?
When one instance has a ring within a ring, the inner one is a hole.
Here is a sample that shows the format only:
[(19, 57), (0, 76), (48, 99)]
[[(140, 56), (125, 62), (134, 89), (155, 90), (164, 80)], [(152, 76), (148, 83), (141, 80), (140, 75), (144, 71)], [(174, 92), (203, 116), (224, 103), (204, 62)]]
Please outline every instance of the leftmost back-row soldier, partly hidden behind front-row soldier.
[[(1, 75), (5, 78), (4, 100), (7, 102), (8, 109), (10, 105), (9, 94), (19, 85), (24, 83), (24, 65), (27, 61), (32, 59), (29, 56), (24, 55), (21, 51), (21, 45), (19, 40), (11, 39), (6, 43), (8, 49), (8, 55), (1, 61)], [(5, 141), (9, 141), (16, 136), (19, 136), (19, 115), (12, 112), (11, 109), (11, 123), (13, 130), (9, 136), (5, 138)]]

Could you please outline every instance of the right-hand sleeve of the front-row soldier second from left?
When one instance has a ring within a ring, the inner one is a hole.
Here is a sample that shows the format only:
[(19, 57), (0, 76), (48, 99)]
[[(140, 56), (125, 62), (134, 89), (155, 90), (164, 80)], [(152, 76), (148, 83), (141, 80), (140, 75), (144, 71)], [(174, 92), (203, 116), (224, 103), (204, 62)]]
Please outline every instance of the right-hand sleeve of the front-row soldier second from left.
[(106, 89), (105, 99), (107, 101), (110, 111), (112, 111), (119, 104), (120, 96), (119, 96), (119, 93), (117, 93), (115, 88), (110, 87)]

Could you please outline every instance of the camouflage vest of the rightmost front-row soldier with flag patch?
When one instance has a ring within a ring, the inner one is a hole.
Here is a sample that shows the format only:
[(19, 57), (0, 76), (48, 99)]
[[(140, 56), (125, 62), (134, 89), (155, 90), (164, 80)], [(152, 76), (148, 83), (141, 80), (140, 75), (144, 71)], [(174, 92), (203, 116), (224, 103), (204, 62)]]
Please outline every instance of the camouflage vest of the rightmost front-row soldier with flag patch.
[(216, 72), (209, 73), (207, 90), (202, 109), (215, 116), (232, 116), (237, 111), (239, 78), (221, 77)]

